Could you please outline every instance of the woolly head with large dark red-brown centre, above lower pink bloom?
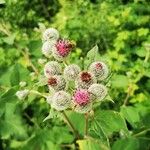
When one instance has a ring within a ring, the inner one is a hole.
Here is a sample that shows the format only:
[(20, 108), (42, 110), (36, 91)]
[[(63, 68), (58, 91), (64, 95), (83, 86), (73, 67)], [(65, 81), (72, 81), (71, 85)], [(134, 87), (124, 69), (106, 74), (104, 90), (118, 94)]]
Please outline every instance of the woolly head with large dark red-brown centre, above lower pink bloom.
[(88, 89), (90, 85), (96, 83), (95, 76), (87, 71), (83, 71), (78, 75), (76, 80), (76, 87), (82, 89)]

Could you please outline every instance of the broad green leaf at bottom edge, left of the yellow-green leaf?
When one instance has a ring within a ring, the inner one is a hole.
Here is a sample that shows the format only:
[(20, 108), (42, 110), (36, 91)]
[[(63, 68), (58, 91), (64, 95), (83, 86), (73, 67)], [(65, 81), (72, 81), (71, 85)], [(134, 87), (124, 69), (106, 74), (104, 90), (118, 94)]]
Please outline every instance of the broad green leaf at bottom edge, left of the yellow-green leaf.
[(60, 144), (72, 143), (73, 140), (73, 136), (65, 127), (55, 126), (52, 129), (39, 129), (27, 140), (22, 150), (60, 150)]

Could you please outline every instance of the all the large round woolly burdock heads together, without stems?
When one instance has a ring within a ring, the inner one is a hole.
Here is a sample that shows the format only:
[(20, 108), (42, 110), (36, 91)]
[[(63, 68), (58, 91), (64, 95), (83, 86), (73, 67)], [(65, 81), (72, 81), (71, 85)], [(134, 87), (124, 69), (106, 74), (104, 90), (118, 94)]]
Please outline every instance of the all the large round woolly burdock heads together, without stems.
[[(76, 64), (63, 65), (59, 63), (70, 54), (74, 44), (69, 40), (59, 39), (56, 29), (47, 29), (43, 33), (42, 53), (55, 61), (48, 62), (44, 67), (49, 90), (54, 93), (47, 98), (47, 102), (58, 111), (67, 108), (79, 113), (86, 113), (93, 104), (101, 101), (107, 95), (107, 88), (100, 81), (108, 76), (108, 67), (104, 62), (92, 62), (87, 70), (81, 70)], [(61, 66), (61, 65), (62, 66)], [(64, 69), (63, 69), (64, 68)], [(69, 83), (74, 82), (70, 91)]]

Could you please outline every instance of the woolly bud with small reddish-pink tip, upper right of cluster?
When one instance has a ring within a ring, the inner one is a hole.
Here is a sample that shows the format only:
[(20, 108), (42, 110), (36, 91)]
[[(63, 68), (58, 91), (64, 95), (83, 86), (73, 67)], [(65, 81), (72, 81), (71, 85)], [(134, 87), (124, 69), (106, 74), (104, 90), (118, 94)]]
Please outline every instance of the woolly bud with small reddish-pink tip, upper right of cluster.
[(106, 79), (109, 74), (107, 65), (100, 61), (93, 62), (89, 67), (89, 71), (92, 72), (98, 80)]

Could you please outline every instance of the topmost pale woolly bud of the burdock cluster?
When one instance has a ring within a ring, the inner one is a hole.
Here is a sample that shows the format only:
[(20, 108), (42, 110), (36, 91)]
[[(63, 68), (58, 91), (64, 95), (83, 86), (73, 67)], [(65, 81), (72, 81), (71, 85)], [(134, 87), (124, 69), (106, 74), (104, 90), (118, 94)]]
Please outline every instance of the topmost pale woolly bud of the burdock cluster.
[(57, 41), (59, 32), (54, 28), (48, 28), (43, 33), (43, 41)]

